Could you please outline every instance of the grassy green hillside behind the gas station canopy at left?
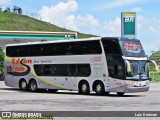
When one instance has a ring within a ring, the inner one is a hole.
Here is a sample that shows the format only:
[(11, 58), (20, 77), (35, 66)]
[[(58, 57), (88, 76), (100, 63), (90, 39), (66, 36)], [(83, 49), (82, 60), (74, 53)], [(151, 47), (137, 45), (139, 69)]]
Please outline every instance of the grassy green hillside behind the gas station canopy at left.
[[(56, 25), (43, 22), (25, 15), (0, 12), (0, 30), (8, 31), (49, 31), (49, 32), (74, 32)], [(94, 35), (77, 33), (78, 38), (89, 38)]]

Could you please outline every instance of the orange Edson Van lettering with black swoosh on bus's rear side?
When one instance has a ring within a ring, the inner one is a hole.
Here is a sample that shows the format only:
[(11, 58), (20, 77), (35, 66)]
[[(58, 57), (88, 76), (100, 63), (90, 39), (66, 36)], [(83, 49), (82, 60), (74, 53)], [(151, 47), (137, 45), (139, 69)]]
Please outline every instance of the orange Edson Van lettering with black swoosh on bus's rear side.
[[(21, 66), (16, 66), (16, 64), (20, 64)], [(31, 71), (31, 68), (27, 64), (32, 64), (32, 60), (26, 60), (25, 58), (23, 58), (22, 60), (20, 60), (20, 58), (13, 58), (12, 66), (10, 66), (10, 70), (8, 73), (14, 76), (25, 76)]]

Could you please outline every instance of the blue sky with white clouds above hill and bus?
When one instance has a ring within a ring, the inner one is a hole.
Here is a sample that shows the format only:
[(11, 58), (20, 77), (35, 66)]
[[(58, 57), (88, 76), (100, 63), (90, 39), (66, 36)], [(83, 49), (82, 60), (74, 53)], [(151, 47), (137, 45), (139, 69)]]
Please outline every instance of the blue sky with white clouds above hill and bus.
[(102, 37), (121, 36), (121, 12), (136, 12), (137, 39), (147, 55), (160, 50), (160, 0), (0, 0), (57, 26)]

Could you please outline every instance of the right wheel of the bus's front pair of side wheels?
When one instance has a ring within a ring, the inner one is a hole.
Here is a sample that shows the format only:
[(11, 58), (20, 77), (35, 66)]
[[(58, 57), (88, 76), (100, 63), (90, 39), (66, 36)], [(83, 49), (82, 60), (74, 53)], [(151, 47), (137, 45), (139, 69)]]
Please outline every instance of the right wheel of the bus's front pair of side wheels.
[(97, 95), (104, 95), (105, 88), (104, 88), (104, 84), (102, 82), (97, 82), (96, 83), (95, 92), (96, 92)]

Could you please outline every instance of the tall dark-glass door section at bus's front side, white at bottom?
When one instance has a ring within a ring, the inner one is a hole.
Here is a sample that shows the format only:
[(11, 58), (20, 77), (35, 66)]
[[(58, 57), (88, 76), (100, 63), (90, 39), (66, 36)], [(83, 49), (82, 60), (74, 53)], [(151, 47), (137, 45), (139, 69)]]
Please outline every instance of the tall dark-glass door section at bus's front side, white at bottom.
[(113, 82), (115, 91), (124, 91), (125, 64), (117, 39), (104, 38), (102, 44), (106, 56), (108, 74)]

